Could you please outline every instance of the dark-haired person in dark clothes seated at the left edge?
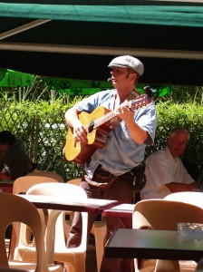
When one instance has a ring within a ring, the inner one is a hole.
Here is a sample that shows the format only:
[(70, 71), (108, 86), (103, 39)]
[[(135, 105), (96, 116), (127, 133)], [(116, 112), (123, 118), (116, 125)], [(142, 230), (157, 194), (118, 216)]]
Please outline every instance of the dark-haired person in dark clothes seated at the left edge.
[(0, 180), (15, 180), (33, 170), (22, 141), (10, 131), (0, 132)]

